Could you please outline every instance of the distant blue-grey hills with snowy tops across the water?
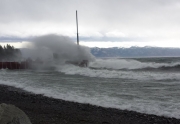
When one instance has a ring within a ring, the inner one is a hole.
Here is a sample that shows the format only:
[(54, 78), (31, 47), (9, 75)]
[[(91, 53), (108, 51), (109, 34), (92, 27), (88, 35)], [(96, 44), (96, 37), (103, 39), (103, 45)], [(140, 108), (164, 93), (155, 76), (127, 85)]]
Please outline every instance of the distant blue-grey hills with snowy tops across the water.
[(96, 57), (180, 57), (180, 48), (130, 47), (91, 48)]

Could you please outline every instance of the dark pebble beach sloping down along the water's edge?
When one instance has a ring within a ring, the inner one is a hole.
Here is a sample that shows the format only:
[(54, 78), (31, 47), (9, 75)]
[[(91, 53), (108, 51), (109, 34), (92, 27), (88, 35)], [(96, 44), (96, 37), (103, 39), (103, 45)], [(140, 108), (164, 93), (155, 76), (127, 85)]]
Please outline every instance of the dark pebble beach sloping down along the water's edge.
[(180, 119), (69, 102), (0, 85), (0, 104), (23, 110), (32, 124), (180, 124)]

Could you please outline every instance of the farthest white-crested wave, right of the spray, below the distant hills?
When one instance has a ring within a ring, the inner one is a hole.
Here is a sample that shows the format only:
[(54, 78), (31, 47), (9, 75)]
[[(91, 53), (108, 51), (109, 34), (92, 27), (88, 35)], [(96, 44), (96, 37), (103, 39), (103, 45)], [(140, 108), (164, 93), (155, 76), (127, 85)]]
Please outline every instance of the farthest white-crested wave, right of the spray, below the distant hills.
[(89, 64), (91, 69), (107, 70), (159, 70), (159, 71), (180, 71), (180, 62), (176, 63), (156, 63), (140, 62), (133, 59), (97, 59)]

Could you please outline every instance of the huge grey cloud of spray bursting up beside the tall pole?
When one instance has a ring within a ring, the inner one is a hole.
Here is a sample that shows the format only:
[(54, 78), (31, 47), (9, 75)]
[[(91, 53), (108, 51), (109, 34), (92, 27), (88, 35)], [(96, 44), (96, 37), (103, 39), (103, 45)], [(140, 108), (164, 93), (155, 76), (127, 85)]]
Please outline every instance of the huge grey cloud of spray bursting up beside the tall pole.
[(33, 60), (40, 59), (44, 62), (54, 61), (58, 63), (95, 60), (88, 47), (75, 44), (67, 36), (48, 34), (36, 37), (31, 42), (31, 48), (23, 55)]

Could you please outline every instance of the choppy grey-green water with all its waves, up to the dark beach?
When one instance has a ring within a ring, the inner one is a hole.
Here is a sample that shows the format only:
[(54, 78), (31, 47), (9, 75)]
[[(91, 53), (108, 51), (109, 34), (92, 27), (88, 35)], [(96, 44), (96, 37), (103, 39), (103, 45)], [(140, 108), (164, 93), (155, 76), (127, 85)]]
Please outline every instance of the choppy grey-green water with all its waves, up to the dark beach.
[(0, 84), (45, 96), (180, 118), (180, 58), (96, 59), (89, 68), (0, 70)]

